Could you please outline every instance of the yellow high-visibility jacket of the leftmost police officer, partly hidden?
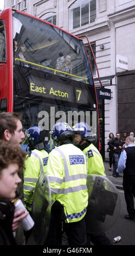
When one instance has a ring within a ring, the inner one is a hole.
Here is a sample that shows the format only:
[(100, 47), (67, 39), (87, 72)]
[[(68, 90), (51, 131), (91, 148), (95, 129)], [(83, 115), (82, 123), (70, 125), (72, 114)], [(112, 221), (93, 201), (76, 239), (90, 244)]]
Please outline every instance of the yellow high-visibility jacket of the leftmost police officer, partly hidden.
[(47, 172), (48, 153), (42, 149), (30, 151), (25, 160), (23, 171), (23, 193), (25, 207), (31, 211), (33, 193), (38, 177), (42, 172)]

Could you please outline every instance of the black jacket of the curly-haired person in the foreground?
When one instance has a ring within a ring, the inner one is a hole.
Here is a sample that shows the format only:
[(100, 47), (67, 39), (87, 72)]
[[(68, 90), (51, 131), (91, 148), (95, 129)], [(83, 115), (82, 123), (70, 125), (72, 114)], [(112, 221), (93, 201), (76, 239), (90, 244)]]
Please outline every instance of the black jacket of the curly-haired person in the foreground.
[(0, 245), (16, 245), (12, 234), (15, 206), (10, 200), (0, 199)]

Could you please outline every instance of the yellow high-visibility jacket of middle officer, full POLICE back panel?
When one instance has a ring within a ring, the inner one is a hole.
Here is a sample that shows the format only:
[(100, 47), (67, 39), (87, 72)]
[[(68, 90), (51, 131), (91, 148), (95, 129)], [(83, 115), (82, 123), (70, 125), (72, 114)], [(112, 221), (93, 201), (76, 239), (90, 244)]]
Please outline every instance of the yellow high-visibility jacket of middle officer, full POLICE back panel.
[(64, 205), (67, 222), (80, 221), (88, 204), (87, 157), (73, 144), (64, 144), (49, 153), (47, 174), (52, 201)]

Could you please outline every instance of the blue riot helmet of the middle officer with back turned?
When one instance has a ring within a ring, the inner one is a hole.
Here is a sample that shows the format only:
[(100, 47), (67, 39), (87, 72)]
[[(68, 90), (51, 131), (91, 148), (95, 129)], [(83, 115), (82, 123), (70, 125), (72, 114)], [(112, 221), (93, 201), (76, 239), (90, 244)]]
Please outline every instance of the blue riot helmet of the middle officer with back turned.
[(56, 144), (61, 144), (61, 141), (65, 139), (70, 139), (73, 142), (73, 129), (65, 122), (56, 123), (50, 131), (50, 137), (52, 137)]

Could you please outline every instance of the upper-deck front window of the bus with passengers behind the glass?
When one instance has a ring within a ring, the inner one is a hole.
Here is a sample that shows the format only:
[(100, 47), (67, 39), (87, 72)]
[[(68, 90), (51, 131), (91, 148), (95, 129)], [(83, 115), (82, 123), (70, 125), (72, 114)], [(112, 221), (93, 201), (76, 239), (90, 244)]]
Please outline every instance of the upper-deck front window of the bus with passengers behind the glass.
[(12, 22), (15, 64), (94, 85), (82, 40), (17, 11)]

